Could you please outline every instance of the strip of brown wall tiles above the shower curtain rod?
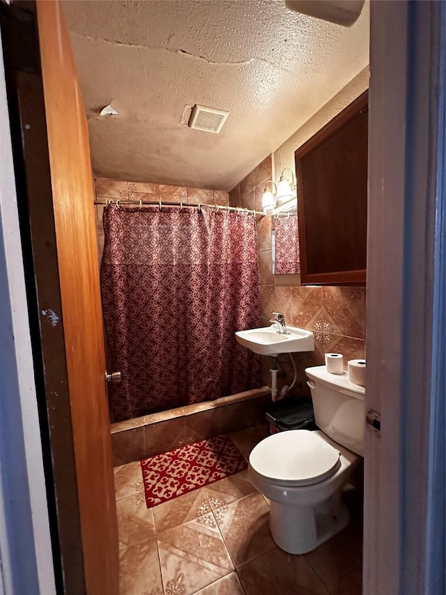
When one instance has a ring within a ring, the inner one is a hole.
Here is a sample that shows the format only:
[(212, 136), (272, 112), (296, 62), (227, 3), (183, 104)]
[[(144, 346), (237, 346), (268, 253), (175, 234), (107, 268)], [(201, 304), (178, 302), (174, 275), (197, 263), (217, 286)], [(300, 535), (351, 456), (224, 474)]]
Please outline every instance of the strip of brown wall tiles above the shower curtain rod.
[[(166, 201), (187, 204), (229, 204), (229, 196), (223, 190), (204, 190), (203, 188), (187, 188), (187, 186), (168, 186), (147, 182), (128, 182), (97, 178), (95, 180), (96, 200), (146, 200)], [(137, 207), (137, 205), (135, 205)], [(104, 250), (104, 228), (102, 227), (102, 211), (104, 206), (96, 205), (96, 225), (98, 230), (99, 262)]]

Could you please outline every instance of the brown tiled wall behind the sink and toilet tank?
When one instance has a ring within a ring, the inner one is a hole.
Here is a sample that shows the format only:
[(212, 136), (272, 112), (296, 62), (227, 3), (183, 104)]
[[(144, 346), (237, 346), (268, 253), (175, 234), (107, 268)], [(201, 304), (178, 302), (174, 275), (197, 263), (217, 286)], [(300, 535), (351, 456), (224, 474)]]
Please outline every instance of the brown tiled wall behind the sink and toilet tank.
[[(263, 190), (271, 178), (272, 161), (268, 156), (231, 190), (229, 204), (261, 211)], [(365, 287), (302, 287), (296, 284), (293, 275), (272, 275), (271, 225), (271, 216), (258, 217), (261, 326), (268, 326), (272, 312), (282, 312), (288, 324), (314, 332), (314, 352), (294, 356), (298, 368), (296, 392), (309, 395), (305, 368), (323, 364), (323, 354), (342, 353), (345, 363), (364, 357)], [(269, 358), (264, 358), (262, 363), (263, 384), (270, 384)], [(281, 368), (286, 376), (293, 376), (286, 359)], [(282, 384), (287, 382), (286, 378), (282, 379)]]

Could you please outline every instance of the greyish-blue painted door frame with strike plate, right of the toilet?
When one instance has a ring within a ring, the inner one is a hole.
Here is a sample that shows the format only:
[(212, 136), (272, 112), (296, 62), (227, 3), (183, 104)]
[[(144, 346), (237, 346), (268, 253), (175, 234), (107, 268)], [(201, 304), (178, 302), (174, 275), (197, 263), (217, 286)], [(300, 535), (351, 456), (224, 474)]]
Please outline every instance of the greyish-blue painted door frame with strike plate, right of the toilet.
[(371, 2), (364, 595), (426, 593), (439, 8)]

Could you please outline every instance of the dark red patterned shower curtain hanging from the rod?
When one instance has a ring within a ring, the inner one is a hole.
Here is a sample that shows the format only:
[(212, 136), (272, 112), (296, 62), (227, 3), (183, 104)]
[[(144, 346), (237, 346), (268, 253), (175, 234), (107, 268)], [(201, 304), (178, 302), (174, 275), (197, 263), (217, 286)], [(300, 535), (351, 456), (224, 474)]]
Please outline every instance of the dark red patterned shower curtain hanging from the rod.
[(259, 326), (255, 218), (107, 205), (103, 222), (114, 421), (260, 386), (259, 356), (234, 335)]

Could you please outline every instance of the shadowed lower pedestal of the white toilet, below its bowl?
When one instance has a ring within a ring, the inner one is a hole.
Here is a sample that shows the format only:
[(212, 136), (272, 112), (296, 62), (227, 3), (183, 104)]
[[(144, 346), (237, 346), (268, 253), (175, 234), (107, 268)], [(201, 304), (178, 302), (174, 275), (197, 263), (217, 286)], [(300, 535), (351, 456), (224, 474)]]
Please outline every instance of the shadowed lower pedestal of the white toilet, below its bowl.
[(316, 506), (287, 506), (271, 502), (270, 531), (281, 550), (306, 554), (348, 525), (349, 514), (340, 494)]

